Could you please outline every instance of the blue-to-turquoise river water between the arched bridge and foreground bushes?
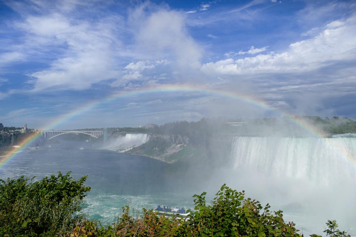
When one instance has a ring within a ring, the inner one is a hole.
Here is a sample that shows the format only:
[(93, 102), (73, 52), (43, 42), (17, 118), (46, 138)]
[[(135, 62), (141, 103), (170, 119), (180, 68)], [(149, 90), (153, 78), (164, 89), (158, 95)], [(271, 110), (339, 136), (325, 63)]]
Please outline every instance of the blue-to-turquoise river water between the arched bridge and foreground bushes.
[[(192, 207), (194, 193), (177, 192), (167, 173), (169, 164), (127, 153), (94, 149), (89, 142), (62, 141), (52, 147), (25, 149), (0, 170), (0, 178), (37, 179), (57, 171), (72, 171), (77, 179), (88, 175), (91, 191), (84, 212), (90, 218), (112, 222), (122, 206), (142, 209), (156, 205)], [(84, 149), (81, 150), (80, 147)]]

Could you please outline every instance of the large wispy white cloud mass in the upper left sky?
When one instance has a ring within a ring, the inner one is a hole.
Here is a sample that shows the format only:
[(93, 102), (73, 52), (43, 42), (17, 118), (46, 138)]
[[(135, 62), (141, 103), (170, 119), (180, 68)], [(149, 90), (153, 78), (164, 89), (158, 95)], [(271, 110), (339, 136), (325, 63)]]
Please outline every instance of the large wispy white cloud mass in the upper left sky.
[[(36, 58), (33, 52), (56, 52), (58, 55), (48, 68), (28, 74), (33, 91), (48, 88), (82, 90), (93, 83), (115, 78), (118, 75), (115, 49), (120, 45), (114, 34), (117, 21), (91, 22), (58, 12), (61, 11), (24, 15), (24, 21), (15, 23), (25, 35), (22, 45), (17, 48), (27, 53), (26, 57)], [(18, 60), (23, 56), (12, 52), (4, 57)]]

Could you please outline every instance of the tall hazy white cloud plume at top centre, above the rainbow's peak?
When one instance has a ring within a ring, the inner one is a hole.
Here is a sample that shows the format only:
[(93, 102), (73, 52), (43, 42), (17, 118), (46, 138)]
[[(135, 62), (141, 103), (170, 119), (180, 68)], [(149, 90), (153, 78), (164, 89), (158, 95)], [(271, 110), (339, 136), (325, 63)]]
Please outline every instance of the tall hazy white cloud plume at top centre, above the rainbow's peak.
[(137, 27), (137, 51), (150, 58), (166, 58), (181, 67), (197, 67), (202, 49), (185, 29), (185, 15), (181, 12), (157, 9), (146, 14), (136, 9), (131, 14), (133, 28)]

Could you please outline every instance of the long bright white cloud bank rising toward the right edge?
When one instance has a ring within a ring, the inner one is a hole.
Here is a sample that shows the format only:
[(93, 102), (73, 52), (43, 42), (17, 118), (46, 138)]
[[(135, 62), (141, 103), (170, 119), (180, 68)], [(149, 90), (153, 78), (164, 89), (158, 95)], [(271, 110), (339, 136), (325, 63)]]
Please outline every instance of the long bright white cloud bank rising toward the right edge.
[[(354, 60), (356, 59), (355, 23), (356, 17), (351, 17), (343, 21), (343, 24), (332, 24), (334, 28), (327, 28), (314, 38), (292, 43), (288, 51), (282, 53), (270, 52), (255, 57), (210, 62), (204, 64), (201, 70), (209, 75), (211, 73), (235, 75), (286, 70), (307, 71), (324, 67), (337, 60)], [(250, 50), (253, 53), (255, 48)], [(230, 53), (227, 55), (230, 56)]]

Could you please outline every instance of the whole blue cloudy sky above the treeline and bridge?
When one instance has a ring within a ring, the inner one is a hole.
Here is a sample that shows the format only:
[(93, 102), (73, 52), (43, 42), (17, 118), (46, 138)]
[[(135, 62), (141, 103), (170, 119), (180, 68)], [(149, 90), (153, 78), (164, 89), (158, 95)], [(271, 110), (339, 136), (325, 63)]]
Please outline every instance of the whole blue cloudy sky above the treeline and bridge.
[[(0, 122), (58, 129), (201, 117), (356, 118), (355, 1), (0, 1)], [(279, 111), (279, 112), (278, 112)]]

